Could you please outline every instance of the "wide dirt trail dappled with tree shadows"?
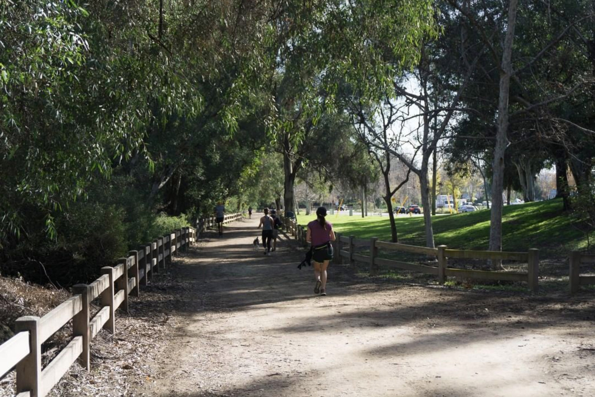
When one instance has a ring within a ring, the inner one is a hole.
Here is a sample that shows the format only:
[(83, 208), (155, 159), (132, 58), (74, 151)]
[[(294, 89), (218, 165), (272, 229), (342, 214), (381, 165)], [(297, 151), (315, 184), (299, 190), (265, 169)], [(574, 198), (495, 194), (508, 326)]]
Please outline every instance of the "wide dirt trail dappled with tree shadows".
[(234, 222), (181, 259), (180, 327), (141, 395), (595, 395), (593, 299), (405, 286), (337, 265), (314, 296), (295, 243), (253, 252), (256, 225)]

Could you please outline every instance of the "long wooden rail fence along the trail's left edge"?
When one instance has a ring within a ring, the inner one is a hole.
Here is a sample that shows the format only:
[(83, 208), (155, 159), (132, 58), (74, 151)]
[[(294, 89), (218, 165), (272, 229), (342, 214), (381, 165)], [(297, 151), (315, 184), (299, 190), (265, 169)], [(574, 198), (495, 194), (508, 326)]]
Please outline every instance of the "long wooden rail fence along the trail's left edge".
[[(224, 223), (242, 217), (225, 216)], [(0, 379), (13, 368), (16, 371), (16, 397), (44, 397), (75, 361), (90, 370), (90, 342), (103, 328), (115, 333), (115, 311), (128, 311), (129, 295), (138, 297), (146, 286), (166, 268), (174, 253), (186, 250), (198, 236), (215, 225), (215, 218), (203, 218), (199, 228), (181, 228), (155, 238), (152, 243), (130, 251), (116, 266), (101, 268), (101, 277), (90, 284), (77, 284), (73, 296), (43, 317), (25, 316), (16, 321), (16, 333), (0, 345)], [(90, 303), (98, 300), (100, 309), (90, 312)], [(42, 368), (42, 343), (72, 321), (72, 339), (58, 355)]]

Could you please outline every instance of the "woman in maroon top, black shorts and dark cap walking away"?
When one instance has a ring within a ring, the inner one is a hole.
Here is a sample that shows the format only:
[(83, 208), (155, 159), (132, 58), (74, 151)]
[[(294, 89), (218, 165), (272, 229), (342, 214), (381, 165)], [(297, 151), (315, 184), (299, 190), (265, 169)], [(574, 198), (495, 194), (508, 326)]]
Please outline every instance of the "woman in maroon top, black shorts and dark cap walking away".
[(324, 219), (325, 216), (327, 216), (327, 209), (318, 207), (316, 221), (308, 224), (308, 232), (306, 232), (306, 241), (312, 244), (312, 262), (314, 262), (316, 278), (314, 293), (321, 295), (327, 294), (328, 262), (333, 259), (333, 245), (330, 242), (335, 240), (333, 225)]

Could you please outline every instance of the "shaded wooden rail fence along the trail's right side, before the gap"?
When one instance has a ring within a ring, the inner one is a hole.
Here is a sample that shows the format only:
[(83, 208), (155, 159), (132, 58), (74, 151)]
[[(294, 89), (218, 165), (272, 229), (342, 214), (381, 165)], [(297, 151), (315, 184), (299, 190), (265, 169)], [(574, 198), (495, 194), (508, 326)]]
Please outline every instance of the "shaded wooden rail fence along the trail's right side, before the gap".
[[(297, 224), (293, 219), (284, 219), (287, 231), (294, 235), (300, 243), (306, 244), (306, 227)], [(356, 249), (368, 251), (368, 255), (356, 252)], [(403, 262), (400, 260), (384, 259), (378, 257), (378, 250), (390, 250), (397, 252), (408, 252), (426, 255), (437, 260), (437, 266), (422, 265), (420, 263)], [(380, 266), (386, 268), (404, 269), (436, 275), (439, 283), (446, 282), (447, 277), (464, 277), (477, 280), (493, 281), (524, 281), (528, 289), (538, 291), (537, 278), (539, 275), (539, 250), (530, 249), (527, 252), (497, 252), (497, 251), (475, 251), (475, 250), (453, 250), (447, 246), (436, 248), (411, 246), (408, 244), (390, 243), (380, 241), (377, 237), (369, 239), (356, 238), (353, 235), (345, 236), (336, 233), (334, 241), (334, 262), (350, 264), (363, 262), (369, 264), (369, 273), (378, 274)], [(486, 259), (486, 260), (516, 260), (527, 263), (527, 272), (499, 272), (481, 271), (473, 269), (456, 269), (448, 267), (449, 259)]]

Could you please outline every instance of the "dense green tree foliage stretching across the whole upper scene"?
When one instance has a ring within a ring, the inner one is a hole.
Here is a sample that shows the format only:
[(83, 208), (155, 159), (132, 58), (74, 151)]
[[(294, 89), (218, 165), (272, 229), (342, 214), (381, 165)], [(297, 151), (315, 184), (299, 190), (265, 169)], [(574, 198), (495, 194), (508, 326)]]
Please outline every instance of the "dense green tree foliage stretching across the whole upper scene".
[[(506, 161), (527, 198), (546, 165), (592, 181), (593, 13), (519, 7)], [(354, 101), (425, 104), (419, 173), (447, 142), (455, 172), (487, 165), (505, 26), (500, 1), (0, 1), (2, 268), (84, 278), (162, 233), (159, 214), (292, 209), (295, 181), (365, 191), (378, 147)], [(423, 95), (402, 97), (414, 79)]]

